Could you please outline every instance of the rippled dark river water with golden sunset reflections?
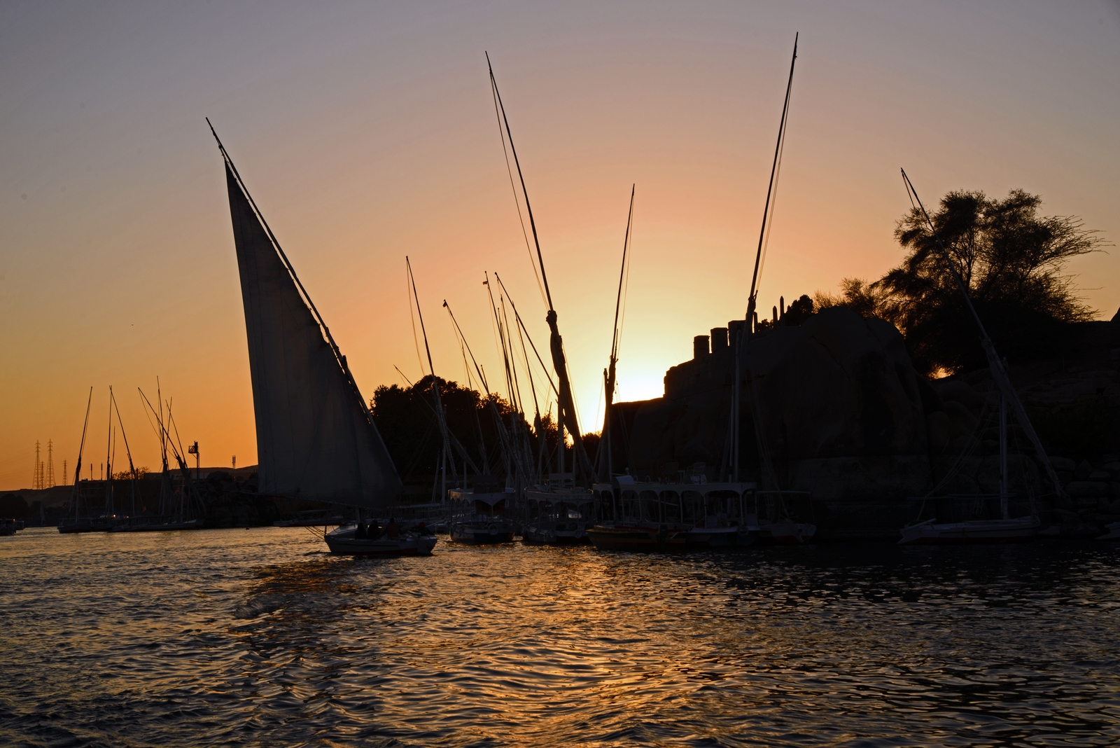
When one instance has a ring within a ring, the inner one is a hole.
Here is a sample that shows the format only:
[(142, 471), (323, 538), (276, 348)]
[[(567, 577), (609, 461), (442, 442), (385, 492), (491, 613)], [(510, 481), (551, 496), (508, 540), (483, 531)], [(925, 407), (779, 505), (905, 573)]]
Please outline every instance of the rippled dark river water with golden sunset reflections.
[(1118, 746), (1120, 548), (0, 539), (0, 745)]

